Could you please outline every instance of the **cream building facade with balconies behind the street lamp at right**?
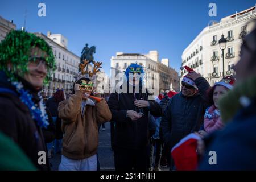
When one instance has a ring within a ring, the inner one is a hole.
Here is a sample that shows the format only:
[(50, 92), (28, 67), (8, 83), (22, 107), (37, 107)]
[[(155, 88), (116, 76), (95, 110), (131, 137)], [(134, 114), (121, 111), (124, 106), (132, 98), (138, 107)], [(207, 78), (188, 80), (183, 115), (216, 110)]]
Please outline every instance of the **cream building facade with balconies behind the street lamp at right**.
[[(223, 73), (223, 55), (218, 44), (221, 35), (227, 39), (224, 50), (224, 74), (234, 75), (233, 65), (240, 59), (242, 38), (249, 34), (250, 20), (256, 18), (255, 7), (222, 18), (205, 27), (189, 44), (182, 54), (182, 65), (188, 65), (207, 79), (212, 86), (221, 80)], [(180, 81), (187, 71), (180, 71)]]

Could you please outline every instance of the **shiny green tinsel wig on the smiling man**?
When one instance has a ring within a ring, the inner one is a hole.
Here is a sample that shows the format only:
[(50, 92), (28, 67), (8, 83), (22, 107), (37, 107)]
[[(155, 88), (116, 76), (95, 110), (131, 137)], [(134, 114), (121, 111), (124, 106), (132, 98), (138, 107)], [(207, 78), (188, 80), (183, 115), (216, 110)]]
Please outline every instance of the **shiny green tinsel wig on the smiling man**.
[[(14, 73), (19, 73), (20, 76), (23, 76), (28, 72), (27, 65), (29, 63), (29, 57), (31, 56), (30, 51), (31, 48), (35, 47), (46, 52), (44, 59), (47, 63), (48, 73), (44, 79), (44, 85), (47, 85), (51, 72), (56, 69), (55, 58), (52, 53), (52, 48), (47, 42), (35, 34), (13, 30), (6, 36), (0, 43), (0, 70), (4, 71), (11, 81), (16, 81), (17, 78)], [(37, 52), (35, 52), (35, 55), (36, 54)], [(35, 59), (32, 61), (35, 61)], [(12, 65), (11, 70), (7, 67), (8, 63)]]

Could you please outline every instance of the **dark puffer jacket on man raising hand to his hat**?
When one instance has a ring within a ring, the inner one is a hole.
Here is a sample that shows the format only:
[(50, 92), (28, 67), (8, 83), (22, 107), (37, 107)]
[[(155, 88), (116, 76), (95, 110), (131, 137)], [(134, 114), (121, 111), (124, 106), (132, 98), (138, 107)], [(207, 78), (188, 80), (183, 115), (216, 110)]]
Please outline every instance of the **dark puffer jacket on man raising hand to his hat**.
[(161, 121), (164, 142), (173, 147), (189, 133), (198, 131), (204, 121), (207, 104), (205, 93), (209, 84), (205, 78), (195, 80), (199, 93), (185, 97), (180, 92), (172, 97), (167, 104)]

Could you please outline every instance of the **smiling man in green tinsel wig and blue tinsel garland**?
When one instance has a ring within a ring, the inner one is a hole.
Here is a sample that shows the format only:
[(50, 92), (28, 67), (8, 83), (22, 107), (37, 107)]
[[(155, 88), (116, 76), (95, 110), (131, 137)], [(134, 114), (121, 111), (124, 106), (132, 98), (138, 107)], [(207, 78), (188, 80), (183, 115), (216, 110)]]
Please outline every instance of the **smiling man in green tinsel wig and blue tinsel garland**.
[(49, 169), (42, 133), (49, 123), (40, 90), (54, 68), (52, 48), (34, 34), (14, 30), (0, 43), (0, 131), (40, 170)]

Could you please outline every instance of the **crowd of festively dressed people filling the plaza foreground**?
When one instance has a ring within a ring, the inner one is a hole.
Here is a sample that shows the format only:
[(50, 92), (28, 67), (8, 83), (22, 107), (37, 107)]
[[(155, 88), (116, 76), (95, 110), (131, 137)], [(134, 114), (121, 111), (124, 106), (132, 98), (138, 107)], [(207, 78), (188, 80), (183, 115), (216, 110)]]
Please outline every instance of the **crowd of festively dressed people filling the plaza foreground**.
[[(235, 76), (210, 86), (184, 66), (181, 91), (155, 99), (142, 65), (129, 65), (122, 86), (106, 98), (86, 64), (71, 96), (57, 90), (43, 100), (40, 91), (55, 70), (52, 48), (25, 31), (11, 31), (0, 43), (0, 169), (50, 170), (48, 158), (61, 152), (59, 170), (96, 171), (105, 122), (111, 122), (116, 171), (256, 169), (256, 29), (243, 39)], [(171, 152), (191, 134), (197, 137), (189, 151)], [(39, 163), (40, 151), (46, 162)], [(209, 163), (210, 151), (217, 164)]]

